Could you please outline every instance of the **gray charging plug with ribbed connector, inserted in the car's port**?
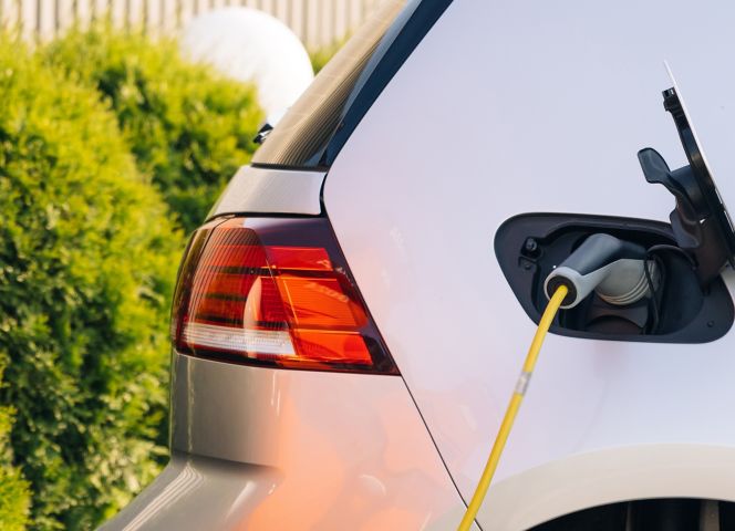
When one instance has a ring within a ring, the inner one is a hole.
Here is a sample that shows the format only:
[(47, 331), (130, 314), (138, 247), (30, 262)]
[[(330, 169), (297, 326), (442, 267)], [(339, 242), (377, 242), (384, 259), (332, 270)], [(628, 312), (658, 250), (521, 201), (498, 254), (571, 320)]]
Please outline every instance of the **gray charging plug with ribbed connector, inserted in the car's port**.
[(544, 291), (550, 299), (559, 285), (566, 285), (569, 293), (561, 304), (565, 310), (574, 308), (593, 290), (609, 304), (623, 306), (649, 294), (646, 267), (655, 285), (659, 271), (653, 261), (646, 261), (643, 246), (597, 233), (549, 273)]

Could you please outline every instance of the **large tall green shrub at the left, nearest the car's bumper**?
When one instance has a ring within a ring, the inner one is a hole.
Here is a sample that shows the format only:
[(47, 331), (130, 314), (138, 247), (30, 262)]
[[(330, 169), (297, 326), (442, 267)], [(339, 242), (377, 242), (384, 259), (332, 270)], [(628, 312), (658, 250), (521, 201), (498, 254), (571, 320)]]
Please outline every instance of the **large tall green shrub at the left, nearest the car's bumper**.
[(7, 40), (0, 211), (0, 405), (31, 524), (91, 529), (164, 459), (182, 238), (99, 94)]

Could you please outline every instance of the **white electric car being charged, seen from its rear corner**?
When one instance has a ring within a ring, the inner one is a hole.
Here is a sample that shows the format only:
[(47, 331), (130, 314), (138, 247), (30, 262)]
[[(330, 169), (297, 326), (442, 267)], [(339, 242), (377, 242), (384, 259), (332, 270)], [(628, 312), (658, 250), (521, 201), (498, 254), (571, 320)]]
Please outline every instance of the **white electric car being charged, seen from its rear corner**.
[(649, 278), (556, 316), (473, 525), (735, 529), (733, 21), (385, 2), (193, 235), (170, 464), (104, 529), (456, 529), (594, 235)]

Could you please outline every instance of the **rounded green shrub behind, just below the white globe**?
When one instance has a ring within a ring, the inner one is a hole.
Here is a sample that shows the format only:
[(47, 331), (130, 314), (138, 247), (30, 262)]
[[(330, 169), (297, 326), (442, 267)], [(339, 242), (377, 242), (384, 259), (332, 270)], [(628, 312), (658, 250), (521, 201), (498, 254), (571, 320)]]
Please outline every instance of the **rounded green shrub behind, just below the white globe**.
[(139, 169), (186, 231), (250, 160), (262, 121), (252, 87), (187, 63), (174, 41), (96, 27), (69, 33), (46, 56), (110, 102)]

